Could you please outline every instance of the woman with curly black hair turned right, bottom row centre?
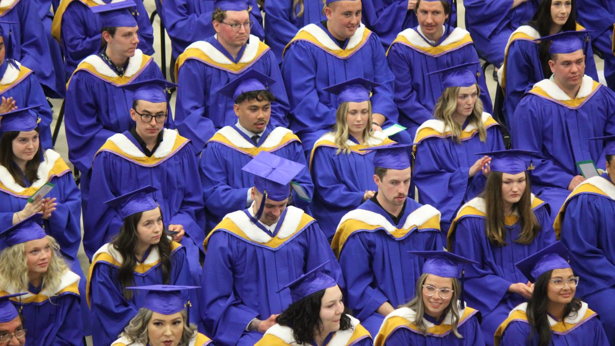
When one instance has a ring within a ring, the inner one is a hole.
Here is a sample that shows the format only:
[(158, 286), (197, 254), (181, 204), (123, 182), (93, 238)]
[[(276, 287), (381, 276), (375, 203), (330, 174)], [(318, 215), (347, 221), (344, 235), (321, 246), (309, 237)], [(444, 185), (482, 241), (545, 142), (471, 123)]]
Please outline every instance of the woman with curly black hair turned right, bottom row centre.
[(373, 345), (370, 333), (344, 306), (338, 283), (323, 272), (327, 263), (280, 289), (290, 289), (293, 303), (255, 346)]

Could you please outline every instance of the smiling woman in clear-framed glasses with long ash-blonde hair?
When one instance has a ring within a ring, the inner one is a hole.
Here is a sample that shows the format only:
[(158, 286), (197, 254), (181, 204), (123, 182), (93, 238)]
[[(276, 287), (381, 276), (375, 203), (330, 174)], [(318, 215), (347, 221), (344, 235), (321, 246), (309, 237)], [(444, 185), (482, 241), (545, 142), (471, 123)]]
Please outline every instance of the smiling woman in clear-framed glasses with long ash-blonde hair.
[(477, 262), (446, 251), (411, 253), (426, 258), (415, 297), (386, 316), (375, 344), (485, 345), (480, 312), (464, 304), (459, 283), (463, 265)]

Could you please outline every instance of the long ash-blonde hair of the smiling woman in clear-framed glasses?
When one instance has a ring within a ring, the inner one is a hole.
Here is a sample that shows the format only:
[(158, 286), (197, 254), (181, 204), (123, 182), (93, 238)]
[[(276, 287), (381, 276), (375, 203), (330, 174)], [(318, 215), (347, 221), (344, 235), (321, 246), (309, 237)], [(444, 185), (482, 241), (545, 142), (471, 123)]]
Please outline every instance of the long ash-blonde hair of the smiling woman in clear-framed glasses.
[[(415, 324), (416, 329), (418, 329), (418, 331), (424, 336), (427, 336), (429, 329), (427, 328), (423, 318), (425, 315), (425, 302), (423, 301), (423, 294), (421, 292), (423, 292), (423, 285), (425, 284), (427, 275), (429, 275), (429, 273), (423, 273), (419, 277), (419, 280), (416, 281), (415, 297), (410, 300), (408, 304), (401, 306), (410, 308), (416, 313), (415, 320), (412, 321), (412, 323)], [(459, 295), (461, 294), (461, 285), (459, 284), (459, 280), (456, 278), (451, 278), (451, 281), (453, 281), (453, 297), (451, 297), (448, 307), (444, 309), (442, 314), (443, 316), (446, 316), (449, 312), (451, 313), (451, 327), (453, 328), (453, 334), (455, 334), (458, 339), (463, 339), (457, 330), (457, 326), (459, 324), (459, 305), (457, 302), (459, 300)]]

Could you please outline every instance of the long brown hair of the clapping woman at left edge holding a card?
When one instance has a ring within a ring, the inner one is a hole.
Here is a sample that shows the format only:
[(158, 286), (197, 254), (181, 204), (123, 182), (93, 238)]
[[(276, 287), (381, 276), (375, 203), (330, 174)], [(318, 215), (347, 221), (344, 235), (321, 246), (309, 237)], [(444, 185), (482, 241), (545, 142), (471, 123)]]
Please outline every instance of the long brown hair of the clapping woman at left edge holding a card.
[[(38, 126), (36, 133), (39, 133)], [(15, 179), (21, 187), (26, 187), (26, 182), (23, 180), (22, 171), (13, 161), (15, 155), (13, 153), (13, 140), (17, 138), (21, 131), (6, 131), (0, 139), (0, 165), (4, 166), (10, 175)], [(41, 165), (42, 143), (39, 139), (39, 148), (36, 151), (34, 158), (26, 163), (26, 171), (23, 174), (28, 182), (32, 183), (39, 179), (38, 167)]]

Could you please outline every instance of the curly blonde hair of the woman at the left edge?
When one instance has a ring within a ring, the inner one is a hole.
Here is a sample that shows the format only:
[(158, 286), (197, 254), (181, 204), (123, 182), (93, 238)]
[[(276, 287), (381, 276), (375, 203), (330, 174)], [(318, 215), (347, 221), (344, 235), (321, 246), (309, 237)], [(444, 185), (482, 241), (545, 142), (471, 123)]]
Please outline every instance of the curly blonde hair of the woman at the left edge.
[[(65, 260), (60, 255), (60, 245), (52, 236), (47, 236), (52, 247), (47, 272), (42, 275), (42, 287), (50, 292), (57, 291), (62, 275), (68, 270)], [(26, 243), (9, 246), (0, 253), (0, 289), (8, 292), (28, 291), (30, 278), (26, 260)]]

